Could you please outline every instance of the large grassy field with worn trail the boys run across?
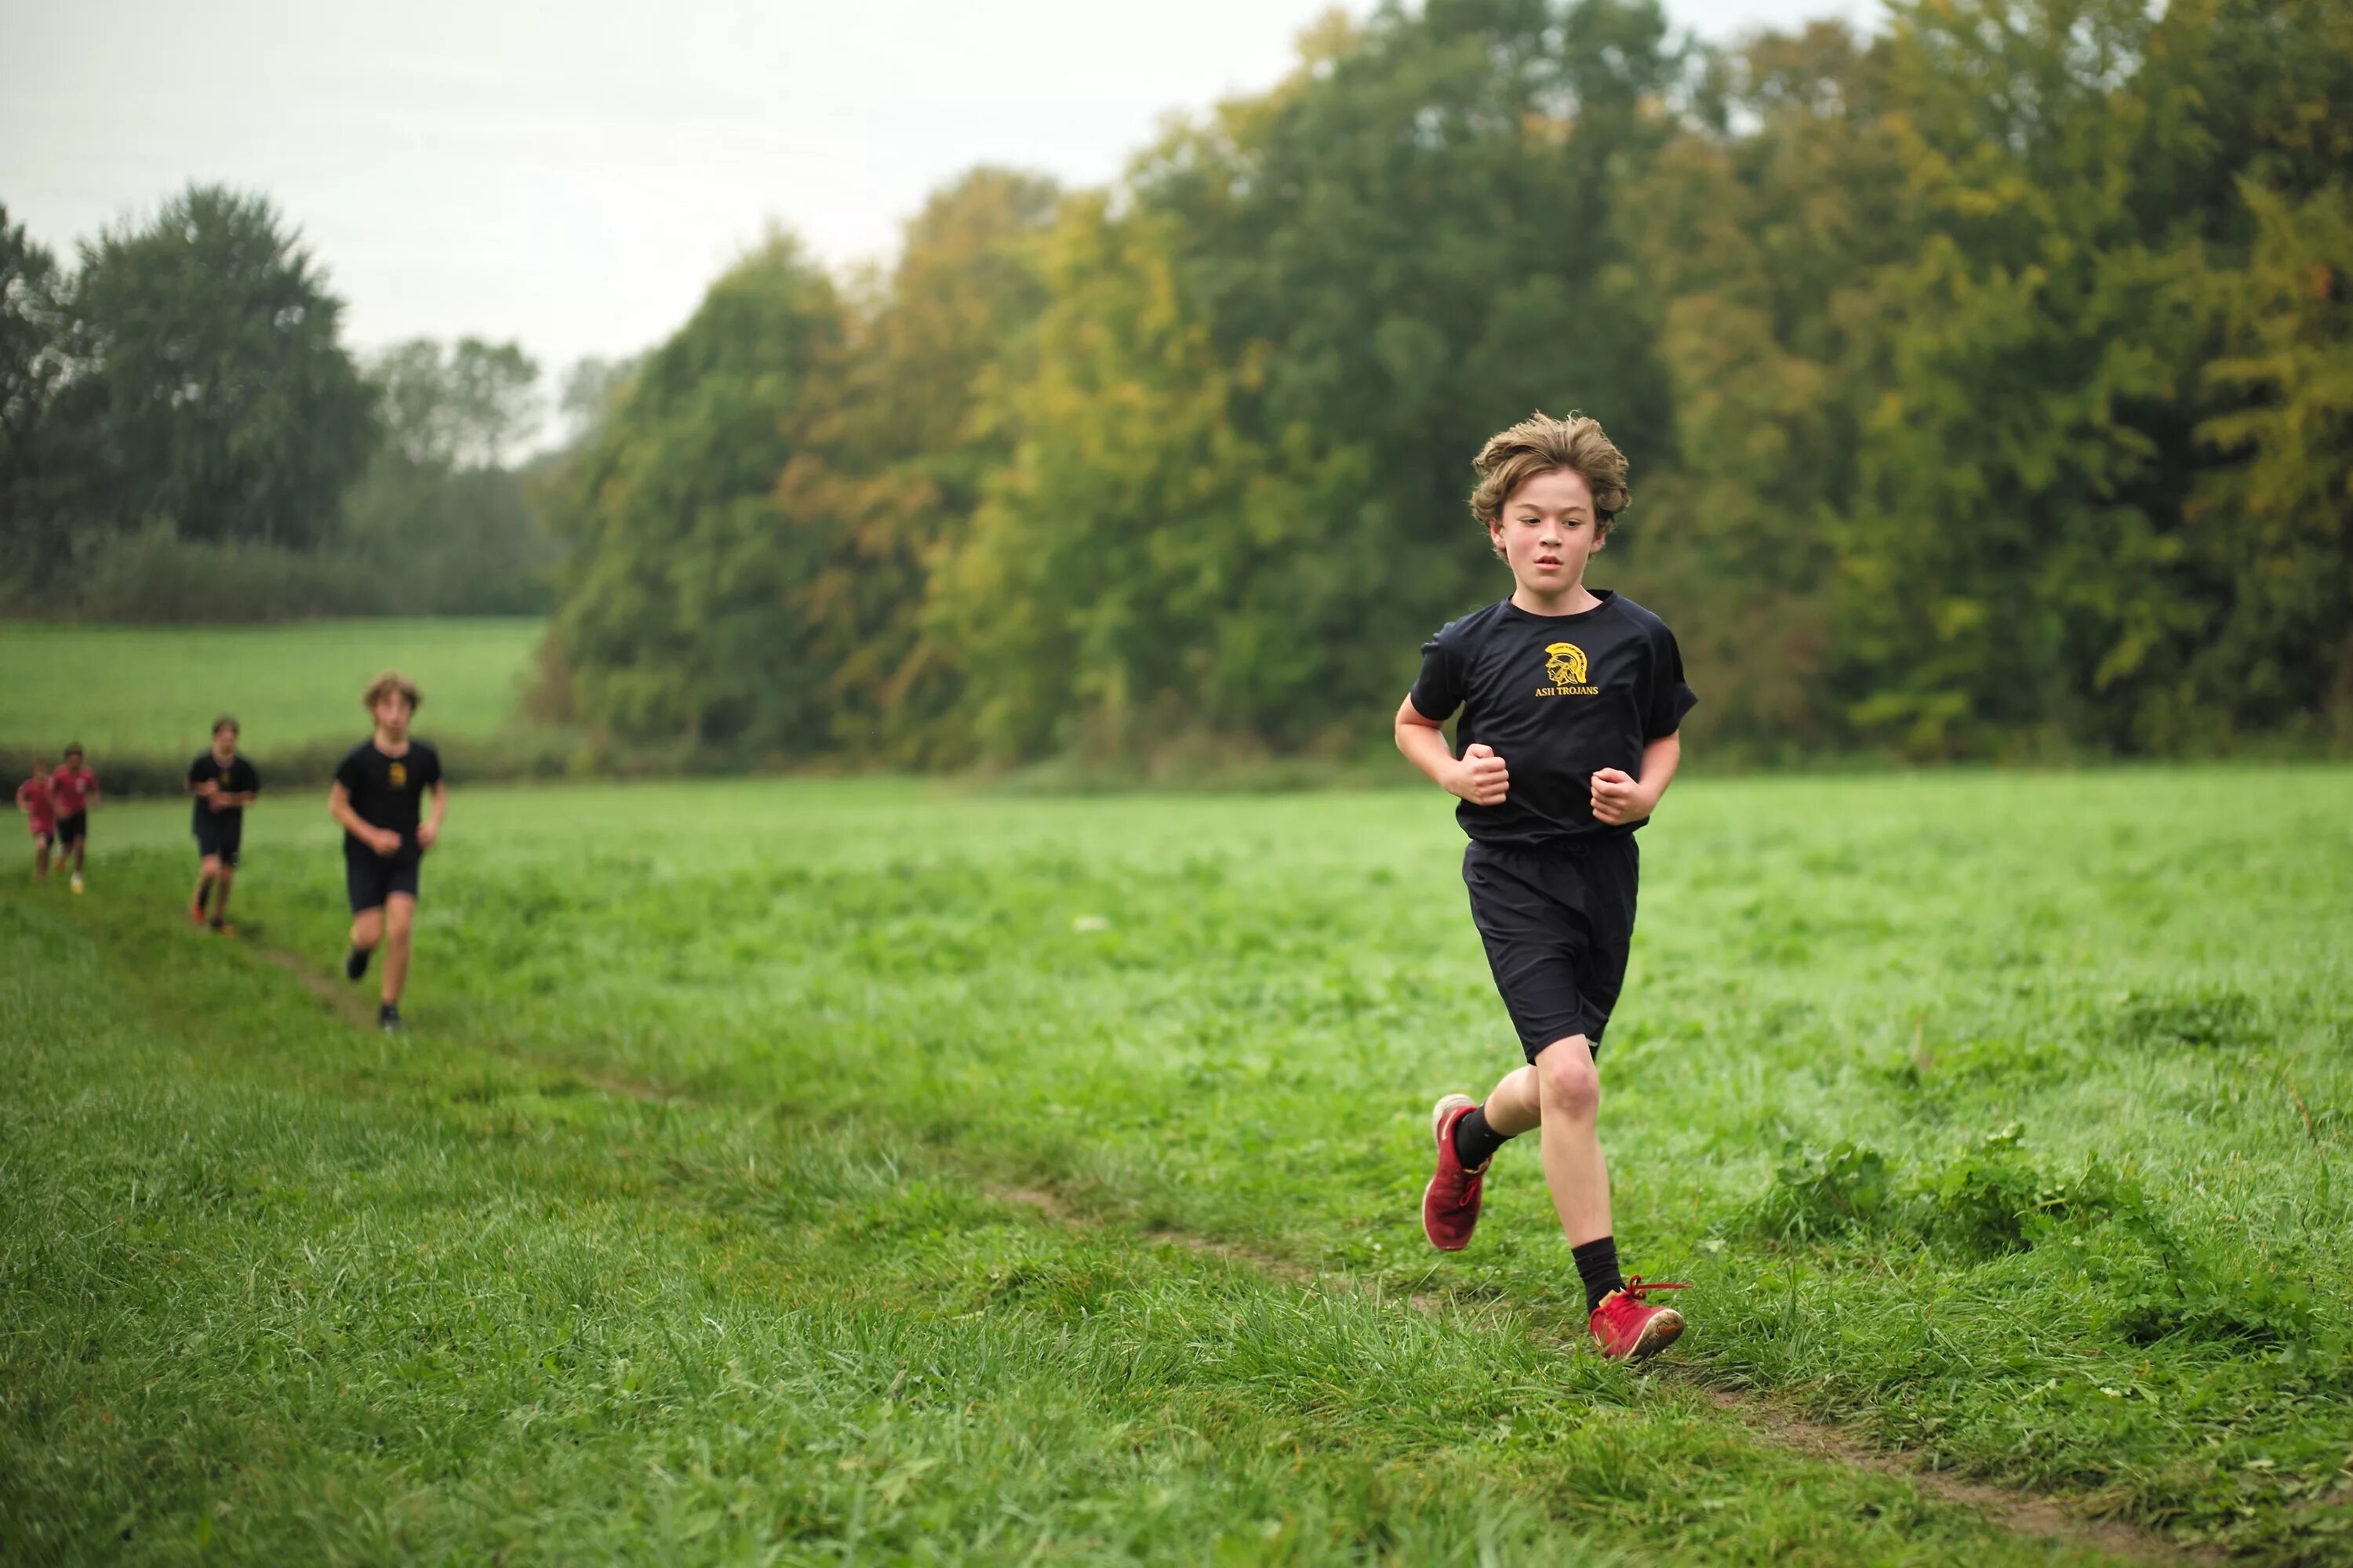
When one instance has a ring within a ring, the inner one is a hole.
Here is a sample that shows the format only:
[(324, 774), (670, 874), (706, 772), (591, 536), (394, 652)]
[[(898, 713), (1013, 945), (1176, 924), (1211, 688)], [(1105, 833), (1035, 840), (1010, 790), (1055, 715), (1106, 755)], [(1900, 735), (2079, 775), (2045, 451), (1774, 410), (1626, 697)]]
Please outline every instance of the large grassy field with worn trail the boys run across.
[(1692, 780), (1581, 1347), (1435, 795), (473, 790), (0, 891), (0, 1559), (2353, 1561), (2353, 771)]

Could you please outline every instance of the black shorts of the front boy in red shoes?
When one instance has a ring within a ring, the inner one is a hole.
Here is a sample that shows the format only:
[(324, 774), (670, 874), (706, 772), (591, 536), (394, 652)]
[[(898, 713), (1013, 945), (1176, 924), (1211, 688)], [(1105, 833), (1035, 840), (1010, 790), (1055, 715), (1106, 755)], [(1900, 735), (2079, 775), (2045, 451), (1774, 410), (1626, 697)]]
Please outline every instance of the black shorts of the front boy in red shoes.
[(1640, 875), (1633, 835), (1548, 849), (1473, 842), (1464, 851), (1471, 919), (1527, 1060), (1569, 1034), (1600, 1053), (1626, 985)]

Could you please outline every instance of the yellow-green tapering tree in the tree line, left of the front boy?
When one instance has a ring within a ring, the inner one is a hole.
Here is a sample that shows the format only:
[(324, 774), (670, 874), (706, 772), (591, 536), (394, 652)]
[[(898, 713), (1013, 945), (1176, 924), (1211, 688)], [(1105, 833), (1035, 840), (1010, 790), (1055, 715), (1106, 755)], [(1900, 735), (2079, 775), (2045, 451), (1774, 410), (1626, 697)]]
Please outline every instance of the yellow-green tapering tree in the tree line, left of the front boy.
[(1315, 527), (1362, 468), (1240, 428), (1261, 369), (1219, 357), (1172, 249), (1169, 219), (1113, 219), (1101, 195), (1047, 237), (1052, 306), (988, 411), (1014, 454), (932, 597), (984, 757), (1299, 745), (1334, 684), (1362, 686), (1355, 557)]

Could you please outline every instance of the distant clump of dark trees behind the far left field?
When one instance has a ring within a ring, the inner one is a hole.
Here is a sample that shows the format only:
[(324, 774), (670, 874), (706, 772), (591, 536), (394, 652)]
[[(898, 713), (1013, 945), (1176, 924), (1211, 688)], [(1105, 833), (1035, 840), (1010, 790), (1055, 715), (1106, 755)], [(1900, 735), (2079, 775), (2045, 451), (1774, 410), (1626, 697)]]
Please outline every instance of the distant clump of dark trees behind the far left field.
[(513, 343), (360, 362), (266, 197), (191, 186), (64, 268), (0, 207), (0, 609), (108, 621), (518, 614), (553, 541)]

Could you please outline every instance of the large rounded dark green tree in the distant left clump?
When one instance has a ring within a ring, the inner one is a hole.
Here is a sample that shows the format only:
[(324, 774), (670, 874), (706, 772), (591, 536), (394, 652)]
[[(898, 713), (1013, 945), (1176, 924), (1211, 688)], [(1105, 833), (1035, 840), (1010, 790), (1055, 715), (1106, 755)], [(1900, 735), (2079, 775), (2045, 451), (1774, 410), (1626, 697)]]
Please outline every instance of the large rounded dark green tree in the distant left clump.
[(71, 418), (101, 442), (118, 527), (311, 545), (367, 458), (344, 303), (268, 200), (191, 186), (82, 244)]

